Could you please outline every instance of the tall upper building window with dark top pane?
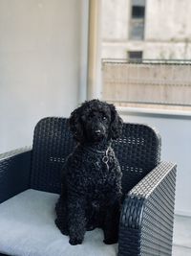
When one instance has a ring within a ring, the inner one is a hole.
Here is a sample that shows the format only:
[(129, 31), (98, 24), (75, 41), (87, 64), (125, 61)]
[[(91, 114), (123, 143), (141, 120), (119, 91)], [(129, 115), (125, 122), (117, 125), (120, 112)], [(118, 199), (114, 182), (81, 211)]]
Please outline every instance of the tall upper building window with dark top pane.
[(144, 38), (145, 0), (131, 1), (130, 39)]

